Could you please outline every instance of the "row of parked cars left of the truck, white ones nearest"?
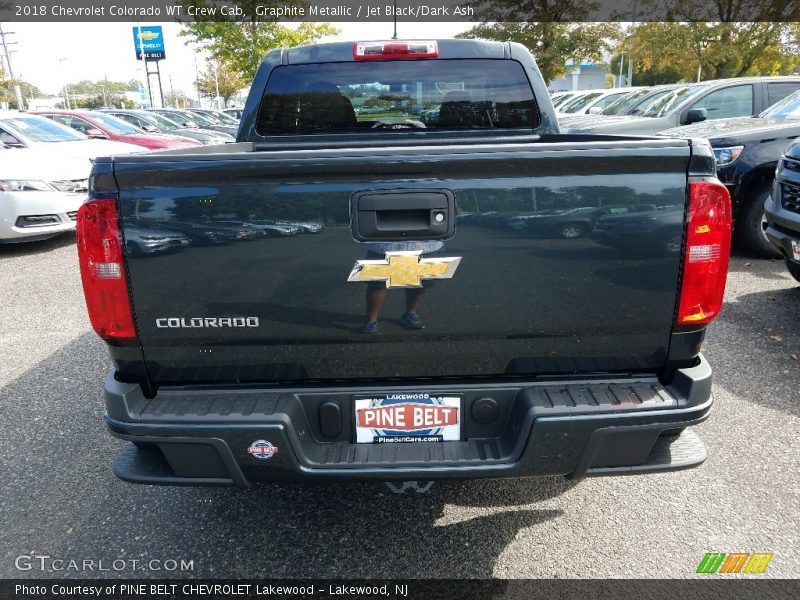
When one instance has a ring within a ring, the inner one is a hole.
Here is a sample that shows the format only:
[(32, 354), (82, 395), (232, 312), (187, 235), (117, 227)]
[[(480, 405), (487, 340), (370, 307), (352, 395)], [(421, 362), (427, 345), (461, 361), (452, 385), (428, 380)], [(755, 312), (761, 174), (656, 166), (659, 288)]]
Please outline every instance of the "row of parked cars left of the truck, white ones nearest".
[(241, 112), (230, 111), (0, 111), (0, 243), (73, 229), (96, 156), (234, 141)]

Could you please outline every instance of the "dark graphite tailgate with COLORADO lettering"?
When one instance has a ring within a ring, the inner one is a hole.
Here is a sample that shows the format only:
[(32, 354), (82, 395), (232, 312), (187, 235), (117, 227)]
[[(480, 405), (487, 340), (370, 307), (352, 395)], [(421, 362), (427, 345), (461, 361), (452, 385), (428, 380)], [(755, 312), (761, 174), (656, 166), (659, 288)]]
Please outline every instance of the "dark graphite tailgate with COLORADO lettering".
[[(560, 137), (115, 159), (149, 378), (657, 371), (678, 295), (691, 147)], [(386, 262), (386, 248), (405, 247), (406, 230), (400, 219), (393, 237), (356, 241), (351, 201), (393, 190), (452, 193), (455, 233), (424, 257), (460, 262), (449, 279), (421, 280), (424, 329), (401, 325), (398, 288), (379, 332), (365, 334), (376, 284), (348, 276), (356, 261)]]

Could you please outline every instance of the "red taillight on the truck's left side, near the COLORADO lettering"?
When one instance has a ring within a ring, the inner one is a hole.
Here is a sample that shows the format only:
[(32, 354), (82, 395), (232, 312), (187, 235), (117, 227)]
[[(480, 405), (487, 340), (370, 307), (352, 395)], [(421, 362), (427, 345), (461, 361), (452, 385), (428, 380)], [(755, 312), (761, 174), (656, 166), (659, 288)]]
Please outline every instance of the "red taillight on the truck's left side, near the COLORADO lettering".
[(92, 327), (107, 341), (135, 338), (117, 201), (90, 199), (78, 210), (76, 227), (83, 293)]

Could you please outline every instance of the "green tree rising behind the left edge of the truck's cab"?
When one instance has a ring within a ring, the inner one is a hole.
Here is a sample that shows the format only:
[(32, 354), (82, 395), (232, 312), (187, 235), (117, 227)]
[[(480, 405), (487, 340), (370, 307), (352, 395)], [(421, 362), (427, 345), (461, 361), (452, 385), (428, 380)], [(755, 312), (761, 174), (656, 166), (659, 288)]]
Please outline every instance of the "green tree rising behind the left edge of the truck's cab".
[[(184, 4), (200, 6), (206, 3), (204, 0), (184, 0)], [(231, 0), (228, 4), (241, 10), (240, 20), (185, 23), (180, 35), (188, 37), (190, 44), (205, 47), (212, 59), (226, 64), (247, 82), (253, 80), (261, 59), (270, 50), (313, 44), (324, 36), (338, 33), (328, 23), (302, 23), (293, 29), (272, 21), (257, 21), (257, 3), (250, 0)], [(263, 2), (258, 4), (262, 8), (267, 5)]]

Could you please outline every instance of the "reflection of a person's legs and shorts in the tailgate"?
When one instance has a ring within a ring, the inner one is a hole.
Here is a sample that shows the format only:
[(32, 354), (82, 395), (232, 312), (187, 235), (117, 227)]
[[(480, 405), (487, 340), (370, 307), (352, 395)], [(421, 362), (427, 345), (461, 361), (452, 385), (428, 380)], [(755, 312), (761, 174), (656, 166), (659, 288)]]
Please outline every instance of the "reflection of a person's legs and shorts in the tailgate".
[[(400, 250), (413, 250), (422, 252), (425, 257), (434, 252), (441, 252), (444, 248), (442, 242), (372, 242), (367, 244), (367, 260), (381, 260), (386, 252), (397, 252)], [(423, 286), (431, 286), (432, 281), (423, 283)], [(425, 288), (406, 288), (406, 312), (400, 317), (400, 324), (406, 329), (425, 329), (425, 324), (417, 314), (417, 310), (422, 304), (422, 296), (425, 295)], [(361, 329), (363, 333), (378, 333), (378, 318), (386, 302), (389, 290), (386, 284), (381, 281), (371, 281), (367, 284), (367, 322)]]

